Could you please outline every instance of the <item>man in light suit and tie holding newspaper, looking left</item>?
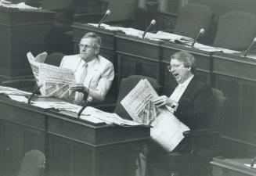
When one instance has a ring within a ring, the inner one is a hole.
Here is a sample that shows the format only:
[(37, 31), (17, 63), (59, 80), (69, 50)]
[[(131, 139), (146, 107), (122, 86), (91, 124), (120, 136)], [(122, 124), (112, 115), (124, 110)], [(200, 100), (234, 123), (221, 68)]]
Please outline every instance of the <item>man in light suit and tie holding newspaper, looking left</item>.
[(76, 84), (70, 89), (76, 92), (76, 104), (82, 104), (84, 95), (88, 95), (90, 102), (102, 102), (110, 90), (114, 66), (109, 60), (99, 56), (100, 45), (101, 38), (89, 32), (81, 38), (80, 54), (64, 56), (60, 63), (60, 67), (74, 71)]

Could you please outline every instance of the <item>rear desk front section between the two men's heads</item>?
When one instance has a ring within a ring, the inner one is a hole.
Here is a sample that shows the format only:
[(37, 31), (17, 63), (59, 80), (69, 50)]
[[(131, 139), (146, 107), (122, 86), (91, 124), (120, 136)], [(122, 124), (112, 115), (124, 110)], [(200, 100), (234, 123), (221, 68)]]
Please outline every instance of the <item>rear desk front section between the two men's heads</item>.
[(160, 41), (117, 33), (116, 52), (119, 83), (134, 74), (160, 79)]

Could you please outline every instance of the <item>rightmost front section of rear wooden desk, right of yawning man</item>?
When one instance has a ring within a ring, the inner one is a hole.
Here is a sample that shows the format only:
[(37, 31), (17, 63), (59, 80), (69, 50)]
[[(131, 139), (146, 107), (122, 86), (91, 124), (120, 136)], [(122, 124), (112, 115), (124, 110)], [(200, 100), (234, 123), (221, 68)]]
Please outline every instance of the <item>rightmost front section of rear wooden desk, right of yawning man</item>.
[(213, 56), (215, 88), (229, 101), (222, 135), (223, 153), (229, 157), (256, 153), (256, 60), (224, 53)]

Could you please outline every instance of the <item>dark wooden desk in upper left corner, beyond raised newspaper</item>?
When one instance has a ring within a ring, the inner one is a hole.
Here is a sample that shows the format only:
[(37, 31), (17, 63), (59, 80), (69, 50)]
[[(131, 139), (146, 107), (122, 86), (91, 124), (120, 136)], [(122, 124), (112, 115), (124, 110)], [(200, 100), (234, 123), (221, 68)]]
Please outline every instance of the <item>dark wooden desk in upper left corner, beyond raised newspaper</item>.
[(44, 51), (54, 13), (0, 7), (0, 81), (31, 77), (27, 52)]

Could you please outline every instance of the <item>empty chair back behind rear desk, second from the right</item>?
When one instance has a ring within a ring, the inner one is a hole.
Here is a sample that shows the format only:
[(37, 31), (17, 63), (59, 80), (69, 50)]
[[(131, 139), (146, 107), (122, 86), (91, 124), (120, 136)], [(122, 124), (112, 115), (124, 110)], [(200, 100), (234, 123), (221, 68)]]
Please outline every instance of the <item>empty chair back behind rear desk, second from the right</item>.
[(207, 5), (186, 5), (178, 11), (174, 33), (195, 38), (201, 28), (204, 28), (206, 33), (209, 31), (212, 18), (213, 13)]

